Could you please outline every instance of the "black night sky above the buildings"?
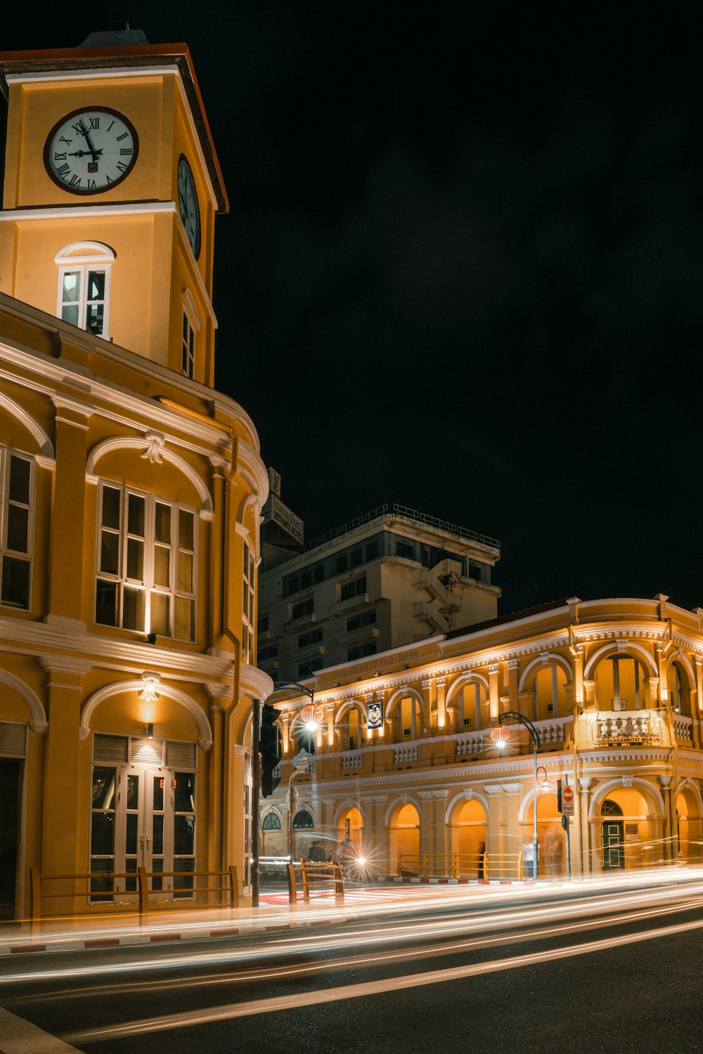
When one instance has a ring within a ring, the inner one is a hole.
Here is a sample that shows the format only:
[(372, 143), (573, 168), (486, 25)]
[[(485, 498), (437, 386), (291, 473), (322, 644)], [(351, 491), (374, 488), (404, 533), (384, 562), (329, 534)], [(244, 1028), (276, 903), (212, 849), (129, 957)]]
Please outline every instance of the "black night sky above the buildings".
[(217, 387), (308, 538), (396, 501), (502, 541), (502, 612), (694, 607), (698, 38), (567, 9), (26, 5), (2, 48), (189, 43), (232, 204)]

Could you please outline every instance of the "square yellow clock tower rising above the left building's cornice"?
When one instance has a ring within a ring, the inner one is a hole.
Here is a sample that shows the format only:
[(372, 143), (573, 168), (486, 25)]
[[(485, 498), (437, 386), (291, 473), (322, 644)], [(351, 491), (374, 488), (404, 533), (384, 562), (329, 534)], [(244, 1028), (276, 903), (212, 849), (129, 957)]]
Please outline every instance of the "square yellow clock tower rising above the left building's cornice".
[(128, 30), (4, 53), (0, 86), (0, 292), (212, 386), (229, 203), (185, 44)]

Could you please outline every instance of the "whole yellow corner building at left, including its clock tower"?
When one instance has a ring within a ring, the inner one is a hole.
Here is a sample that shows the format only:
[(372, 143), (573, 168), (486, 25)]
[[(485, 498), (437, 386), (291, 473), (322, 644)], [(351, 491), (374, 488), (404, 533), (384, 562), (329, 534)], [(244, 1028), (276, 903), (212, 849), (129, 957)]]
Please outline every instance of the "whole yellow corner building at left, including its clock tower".
[(212, 387), (228, 199), (191, 57), (98, 34), (0, 55), (0, 84), (2, 913), (31, 867), (247, 889), (268, 480)]

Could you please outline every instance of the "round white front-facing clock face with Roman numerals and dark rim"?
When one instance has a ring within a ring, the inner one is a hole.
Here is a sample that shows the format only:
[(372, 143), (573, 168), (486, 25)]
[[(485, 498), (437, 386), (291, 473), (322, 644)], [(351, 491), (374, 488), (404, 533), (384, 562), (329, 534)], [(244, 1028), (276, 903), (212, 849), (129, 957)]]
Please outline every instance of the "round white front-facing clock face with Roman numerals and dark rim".
[(46, 137), (44, 164), (55, 183), (72, 194), (102, 194), (132, 172), (139, 139), (116, 110), (74, 110)]

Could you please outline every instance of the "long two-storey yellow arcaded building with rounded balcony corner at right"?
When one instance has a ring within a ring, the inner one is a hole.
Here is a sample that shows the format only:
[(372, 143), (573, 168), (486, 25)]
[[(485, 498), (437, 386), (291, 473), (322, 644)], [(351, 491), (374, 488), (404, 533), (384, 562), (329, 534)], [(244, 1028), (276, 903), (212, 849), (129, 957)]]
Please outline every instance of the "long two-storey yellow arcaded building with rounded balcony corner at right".
[[(281, 783), (262, 853), (329, 852), (349, 833), (376, 875), (526, 878), (538, 784), (539, 877), (566, 875), (558, 781), (572, 790), (568, 863), (588, 875), (702, 858), (703, 611), (577, 598), (319, 670), (276, 696)], [(539, 737), (536, 764), (529, 727)], [(499, 748), (491, 733), (510, 738)], [(308, 717), (305, 713), (305, 717)], [(486, 856), (484, 856), (486, 854)]]

